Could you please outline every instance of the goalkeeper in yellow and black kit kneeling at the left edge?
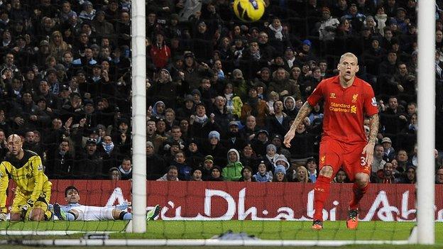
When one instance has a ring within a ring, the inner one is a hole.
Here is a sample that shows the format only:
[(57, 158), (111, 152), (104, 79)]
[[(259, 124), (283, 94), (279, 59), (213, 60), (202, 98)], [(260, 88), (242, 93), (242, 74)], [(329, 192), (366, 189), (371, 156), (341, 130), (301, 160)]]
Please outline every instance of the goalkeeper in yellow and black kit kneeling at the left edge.
[(6, 221), (6, 189), (9, 179), (16, 182), (12, 202), (11, 221), (42, 221), (52, 217), (48, 210), (52, 183), (43, 173), (40, 156), (23, 150), (23, 141), (17, 134), (7, 140), (9, 153), (0, 164), (0, 220)]

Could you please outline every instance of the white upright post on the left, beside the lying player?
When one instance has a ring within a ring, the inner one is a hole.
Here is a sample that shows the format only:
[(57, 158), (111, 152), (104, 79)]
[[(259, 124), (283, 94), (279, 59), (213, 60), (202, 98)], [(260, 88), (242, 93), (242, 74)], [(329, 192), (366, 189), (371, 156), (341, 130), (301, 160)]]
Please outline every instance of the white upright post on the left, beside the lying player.
[(131, 2), (132, 231), (146, 232), (146, 6)]

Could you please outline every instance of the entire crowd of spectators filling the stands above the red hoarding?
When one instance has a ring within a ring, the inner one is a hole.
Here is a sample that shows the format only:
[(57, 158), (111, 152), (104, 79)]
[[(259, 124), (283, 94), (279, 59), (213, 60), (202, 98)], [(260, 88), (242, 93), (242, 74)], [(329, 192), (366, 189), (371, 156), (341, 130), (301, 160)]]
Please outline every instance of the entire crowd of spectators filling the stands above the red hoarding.
[[(315, 182), (322, 106), (291, 148), (283, 136), (354, 52), (381, 116), (372, 181), (414, 182), (416, 1), (265, 1), (256, 23), (241, 23), (228, 0), (146, 1), (147, 178)], [(0, 2), (1, 159), (18, 133), (51, 179), (131, 179), (130, 10), (128, 0)], [(436, 23), (439, 122), (439, 8)], [(441, 183), (438, 150), (436, 162)]]

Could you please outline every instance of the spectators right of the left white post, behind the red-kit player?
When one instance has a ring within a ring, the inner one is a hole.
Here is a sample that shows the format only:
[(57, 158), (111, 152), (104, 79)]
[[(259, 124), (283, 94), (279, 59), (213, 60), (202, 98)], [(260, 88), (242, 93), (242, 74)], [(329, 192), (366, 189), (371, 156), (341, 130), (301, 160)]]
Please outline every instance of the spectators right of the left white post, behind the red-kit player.
[[(337, 74), (339, 56), (354, 52), (381, 117), (372, 182), (415, 182), (416, 1), (266, 0), (257, 23), (241, 23), (230, 4), (148, 4), (149, 179), (315, 182), (322, 105), (290, 148), (283, 136), (317, 84)], [(437, 120), (442, 18), (437, 8)], [(334, 179), (346, 181), (343, 171)]]

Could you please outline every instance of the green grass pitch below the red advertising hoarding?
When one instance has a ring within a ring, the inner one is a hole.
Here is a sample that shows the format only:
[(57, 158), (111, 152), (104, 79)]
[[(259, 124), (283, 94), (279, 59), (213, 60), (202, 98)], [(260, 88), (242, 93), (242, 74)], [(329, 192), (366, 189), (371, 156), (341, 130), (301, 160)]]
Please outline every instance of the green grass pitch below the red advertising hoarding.
[[(312, 231), (312, 221), (149, 221), (143, 234), (124, 233), (127, 221), (46, 221), (0, 222), (0, 231), (78, 231), (68, 236), (0, 236), (5, 239), (82, 238), (84, 233), (113, 232), (110, 238), (146, 239), (205, 239), (226, 231), (245, 232), (270, 240), (407, 240), (415, 223), (412, 222), (360, 222), (350, 231), (345, 221), (325, 221), (322, 231)], [(346, 248), (442, 248), (443, 223), (435, 224), (436, 246), (417, 245), (350, 245)], [(4, 246), (1, 246), (4, 248)], [(5, 247), (6, 248), (6, 247)], [(163, 247), (164, 248), (164, 247)], [(179, 248), (179, 247), (171, 247)], [(190, 249), (191, 247), (187, 247)], [(232, 249), (232, 248), (231, 248)]]

